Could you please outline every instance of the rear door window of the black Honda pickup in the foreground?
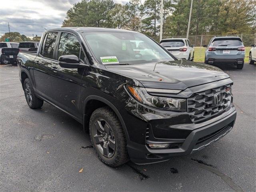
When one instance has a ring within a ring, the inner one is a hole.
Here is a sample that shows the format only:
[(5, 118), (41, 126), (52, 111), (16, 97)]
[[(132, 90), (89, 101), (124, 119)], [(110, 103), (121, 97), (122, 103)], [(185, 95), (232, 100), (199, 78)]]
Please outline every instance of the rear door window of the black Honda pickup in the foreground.
[(48, 33), (46, 37), (46, 41), (44, 43), (43, 56), (46, 58), (53, 58), (54, 46), (56, 43), (58, 32)]

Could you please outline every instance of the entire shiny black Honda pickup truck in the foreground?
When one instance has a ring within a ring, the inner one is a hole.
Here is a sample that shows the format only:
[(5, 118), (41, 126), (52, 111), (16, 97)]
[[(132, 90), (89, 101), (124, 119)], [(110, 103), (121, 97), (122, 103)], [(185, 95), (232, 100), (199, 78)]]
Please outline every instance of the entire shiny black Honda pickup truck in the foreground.
[(109, 166), (197, 152), (236, 120), (228, 74), (178, 60), (138, 32), (46, 30), (37, 53), (20, 52), (18, 60), (28, 106), (46, 101), (83, 124)]

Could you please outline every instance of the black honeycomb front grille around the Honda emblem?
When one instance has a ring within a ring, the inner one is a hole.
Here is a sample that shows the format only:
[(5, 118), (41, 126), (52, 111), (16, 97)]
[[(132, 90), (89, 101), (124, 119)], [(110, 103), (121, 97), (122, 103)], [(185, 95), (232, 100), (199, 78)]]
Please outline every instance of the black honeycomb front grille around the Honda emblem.
[[(224, 85), (192, 94), (188, 98), (188, 114), (192, 122), (199, 122), (222, 114), (228, 109), (231, 102), (231, 85)], [(222, 103), (219, 106), (214, 104), (214, 95), (222, 93)]]

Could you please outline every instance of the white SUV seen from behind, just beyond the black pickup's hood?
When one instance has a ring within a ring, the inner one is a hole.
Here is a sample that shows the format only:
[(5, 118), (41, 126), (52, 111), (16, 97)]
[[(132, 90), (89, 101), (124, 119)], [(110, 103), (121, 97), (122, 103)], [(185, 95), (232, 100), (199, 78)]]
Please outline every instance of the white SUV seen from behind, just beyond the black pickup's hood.
[(163, 39), (160, 41), (160, 45), (166, 48), (171, 54), (174, 56), (186, 59), (186, 60), (194, 60), (194, 47), (190, 43), (190, 40), (186, 38), (170, 38)]

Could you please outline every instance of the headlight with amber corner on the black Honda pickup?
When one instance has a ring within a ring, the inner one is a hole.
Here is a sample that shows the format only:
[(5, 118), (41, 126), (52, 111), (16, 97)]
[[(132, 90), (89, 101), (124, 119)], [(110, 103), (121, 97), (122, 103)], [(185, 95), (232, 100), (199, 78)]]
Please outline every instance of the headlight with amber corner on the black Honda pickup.
[(138, 102), (147, 106), (164, 110), (186, 111), (186, 99), (153, 96), (148, 94), (143, 87), (127, 86), (127, 90)]

